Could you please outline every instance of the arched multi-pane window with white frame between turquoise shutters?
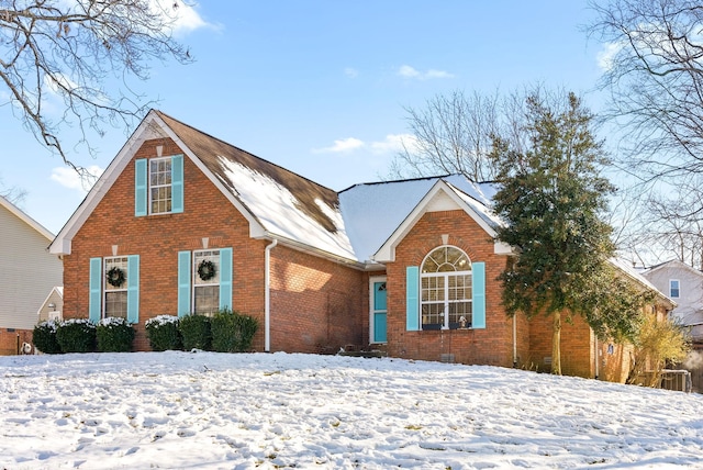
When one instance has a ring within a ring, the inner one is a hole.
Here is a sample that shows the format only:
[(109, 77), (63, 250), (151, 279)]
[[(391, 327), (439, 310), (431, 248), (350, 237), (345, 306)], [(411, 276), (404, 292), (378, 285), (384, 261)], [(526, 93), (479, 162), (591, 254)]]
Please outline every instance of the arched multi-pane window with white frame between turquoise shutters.
[(420, 271), (423, 329), (471, 326), (471, 261), (455, 246), (429, 253)]

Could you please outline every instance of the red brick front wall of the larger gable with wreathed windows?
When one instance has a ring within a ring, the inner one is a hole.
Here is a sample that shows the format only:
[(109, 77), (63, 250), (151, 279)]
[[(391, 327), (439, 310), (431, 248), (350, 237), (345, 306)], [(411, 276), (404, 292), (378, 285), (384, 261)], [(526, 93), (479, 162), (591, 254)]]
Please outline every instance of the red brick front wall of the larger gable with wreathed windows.
[[(182, 150), (170, 139), (147, 141), (134, 159), (165, 156)], [(64, 259), (64, 317), (87, 317), (89, 260), (91, 257), (140, 255), (140, 323), (135, 349), (148, 349), (144, 322), (177, 313), (178, 251), (233, 248), (233, 309), (259, 320), (254, 347), (264, 345), (265, 240), (249, 238), (248, 222), (198, 167), (183, 158), (185, 212), (134, 216), (134, 163), (131, 161), (104, 194), (72, 239), (72, 253)]]

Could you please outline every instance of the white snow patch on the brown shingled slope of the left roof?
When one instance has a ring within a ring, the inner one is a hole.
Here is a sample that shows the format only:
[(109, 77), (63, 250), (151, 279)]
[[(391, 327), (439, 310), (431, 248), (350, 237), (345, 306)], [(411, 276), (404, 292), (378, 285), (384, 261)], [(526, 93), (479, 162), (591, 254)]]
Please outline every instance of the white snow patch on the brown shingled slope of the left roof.
[(303, 212), (300, 201), (271, 177), (224, 157), (220, 157), (220, 160), (224, 176), (236, 190), (236, 197), (271, 235), (356, 259), (338, 209), (331, 208), (320, 199), (314, 200), (336, 226), (336, 231), (328, 231)]

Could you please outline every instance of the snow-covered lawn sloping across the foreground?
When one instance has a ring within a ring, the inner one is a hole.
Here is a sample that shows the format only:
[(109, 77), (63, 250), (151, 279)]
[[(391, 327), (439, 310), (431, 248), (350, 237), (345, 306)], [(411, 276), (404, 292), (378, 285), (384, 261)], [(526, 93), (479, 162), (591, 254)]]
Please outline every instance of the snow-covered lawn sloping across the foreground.
[(703, 468), (703, 395), (288, 354), (0, 358), (3, 469)]

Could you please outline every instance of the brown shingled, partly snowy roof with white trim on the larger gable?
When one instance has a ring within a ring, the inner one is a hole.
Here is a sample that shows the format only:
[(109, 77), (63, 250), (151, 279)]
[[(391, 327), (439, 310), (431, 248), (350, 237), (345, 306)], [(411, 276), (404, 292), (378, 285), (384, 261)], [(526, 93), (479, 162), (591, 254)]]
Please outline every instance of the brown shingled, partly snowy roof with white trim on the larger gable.
[(335, 191), (154, 110), (62, 228), (52, 253), (70, 253), (72, 237), (134, 153), (144, 142), (163, 137), (171, 138), (247, 219), (252, 237), (281, 238), (355, 260)]

